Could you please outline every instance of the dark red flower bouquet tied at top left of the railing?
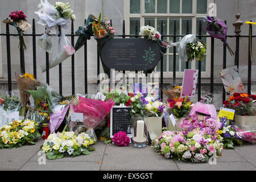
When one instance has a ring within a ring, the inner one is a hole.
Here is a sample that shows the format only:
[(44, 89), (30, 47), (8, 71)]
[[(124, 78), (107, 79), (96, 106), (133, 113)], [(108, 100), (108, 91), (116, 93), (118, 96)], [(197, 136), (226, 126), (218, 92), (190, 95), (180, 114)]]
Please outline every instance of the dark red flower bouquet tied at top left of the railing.
[(27, 47), (23, 39), (23, 32), (28, 30), (31, 25), (27, 23), (27, 16), (21, 10), (11, 12), (9, 17), (10, 19), (3, 20), (3, 23), (11, 24), (16, 28), (19, 34), (19, 49), (24, 51)]

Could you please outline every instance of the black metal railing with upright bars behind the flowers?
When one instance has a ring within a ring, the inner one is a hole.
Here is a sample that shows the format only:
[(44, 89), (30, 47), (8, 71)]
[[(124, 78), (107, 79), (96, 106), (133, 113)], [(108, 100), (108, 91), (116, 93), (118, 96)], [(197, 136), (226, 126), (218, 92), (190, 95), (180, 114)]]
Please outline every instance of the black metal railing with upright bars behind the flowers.
[[(86, 22), (86, 19), (85, 19)], [(112, 24), (112, 20), (110, 21)], [(226, 23), (226, 21), (225, 21)], [(148, 22), (150, 25), (150, 21)], [(164, 35), (163, 34), (163, 20), (161, 22), (160, 26), (160, 34), (162, 35), (162, 39), (169, 37), (173, 38), (174, 42), (176, 40), (179, 40), (180, 37), (183, 37), (185, 35), (177, 35), (177, 25), (176, 25), (176, 20), (174, 20), (174, 34), (173, 35)], [(197, 38), (200, 40), (202, 38), (210, 38), (210, 93), (214, 93), (213, 89), (213, 73), (214, 73), (214, 38), (211, 38), (209, 35), (202, 35), (202, 21), (199, 21), (199, 35), (196, 35)], [(138, 21), (135, 24), (135, 35), (126, 35), (125, 34), (125, 20), (123, 20), (123, 28), (122, 28), (122, 35), (117, 35), (117, 37), (121, 38), (127, 38), (127, 37), (134, 37), (138, 38)], [(187, 34), (189, 34), (189, 23), (187, 20)], [(61, 28), (59, 27), (59, 31), (61, 32)], [(252, 52), (252, 41), (253, 38), (255, 38), (255, 35), (252, 35), (252, 26), (251, 24), (249, 25), (249, 35), (228, 35), (226, 38), (236, 38), (236, 52), (234, 55), (234, 64), (239, 67), (239, 49), (240, 49), (240, 39), (241, 38), (247, 38), (249, 41), (249, 53), (248, 53), (248, 76), (247, 76), (247, 93), (250, 94), (251, 92), (251, 52)], [(36, 36), (41, 36), (42, 34), (36, 34), (36, 28), (35, 28), (35, 19), (32, 20), (32, 34), (24, 34), (23, 36), (32, 36), (32, 64), (33, 64), (33, 73), (36, 78)], [(18, 36), (18, 34), (10, 34), (10, 28), (9, 24), (6, 24), (6, 34), (0, 34), (0, 36), (6, 36), (6, 54), (7, 54), (7, 77), (8, 77), (8, 89), (9, 91), (12, 90), (11, 88), (11, 46), (10, 46), (10, 36)], [(58, 35), (60, 36), (60, 34)], [(74, 46), (74, 40), (75, 40), (75, 35), (74, 34), (74, 25), (73, 25), (73, 20), (71, 22), (71, 34), (67, 34), (67, 36), (71, 36), (71, 44)], [(176, 47), (173, 47), (173, 79), (174, 82), (176, 80)], [(84, 44), (84, 88), (85, 88), (85, 93), (88, 93), (88, 61), (87, 61), (87, 42)], [(223, 69), (226, 68), (226, 45), (223, 44)], [(186, 63), (185, 65), (186, 69), (189, 68), (189, 64)], [(199, 76), (198, 76), (198, 84), (197, 84), (197, 95), (198, 95), (198, 100), (200, 100), (201, 97), (201, 61), (199, 61)], [(20, 73), (25, 73), (25, 63), (24, 63), (24, 51), (20, 49)], [(123, 71), (125, 73), (125, 71)], [(138, 71), (135, 71), (135, 73), (138, 73)], [(72, 81), (72, 94), (75, 94), (75, 54), (72, 55), (71, 58), (71, 81)], [(98, 52), (97, 49), (97, 76), (100, 74), (100, 53)], [(137, 74), (136, 74), (137, 75)], [(138, 81), (137, 78), (135, 78), (135, 81)], [(49, 83), (49, 55), (48, 52), (46, 52), (46, 82), (47, 84)], [(97, 84), (100, 83), (100, 80), (97, 80)], [(160, 59), (160, 86), (163, 86), (163, 56)], [(61, 63), (59, 64), (59, 93), (63, 93), (63, 85), (62, 85), (62, 66)], [(161, 97), (163, 98), (163, 93), (161, 92)], [(222, 100), (225, 100), (226, 94), (225, 94), (225, 89), (222, 89)]]

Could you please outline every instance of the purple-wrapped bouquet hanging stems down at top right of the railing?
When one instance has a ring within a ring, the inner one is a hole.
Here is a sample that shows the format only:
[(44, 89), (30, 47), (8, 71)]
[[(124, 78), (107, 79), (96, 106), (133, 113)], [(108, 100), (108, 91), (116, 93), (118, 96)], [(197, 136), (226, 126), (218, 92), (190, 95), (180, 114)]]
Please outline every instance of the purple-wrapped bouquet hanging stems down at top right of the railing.
[(234, 52), (226, 42), (226, 33), (228, 32), (228, 27), (226, 24), (214, 16), (207, 16), (204, 21), (206, 22), (204, 30), (207, 31), (207, 33), (213, 38), (220, 39), (222, 42), (224, 42), (230, 55), (234, 55)]

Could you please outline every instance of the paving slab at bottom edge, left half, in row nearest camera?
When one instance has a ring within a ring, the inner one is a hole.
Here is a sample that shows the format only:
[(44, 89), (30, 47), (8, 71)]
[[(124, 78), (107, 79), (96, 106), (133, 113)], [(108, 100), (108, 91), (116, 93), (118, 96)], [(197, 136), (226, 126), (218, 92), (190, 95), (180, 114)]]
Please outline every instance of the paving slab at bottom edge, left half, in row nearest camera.
[(47, 161), (39, 165), (36, 161), (27, 162), (20, 171), (98, 171), (101, 164), (93, 162), (58, 162)]

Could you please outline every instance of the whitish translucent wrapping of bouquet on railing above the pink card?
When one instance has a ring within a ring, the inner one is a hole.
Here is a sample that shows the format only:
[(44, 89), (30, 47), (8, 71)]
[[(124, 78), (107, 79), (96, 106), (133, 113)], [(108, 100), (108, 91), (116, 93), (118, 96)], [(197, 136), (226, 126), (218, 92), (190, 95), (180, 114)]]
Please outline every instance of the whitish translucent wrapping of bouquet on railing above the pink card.
[(193, 35), (193, 34), (188, 34), (180, 40), (177, 51), (179, 52), (179, 57), (181, 61), (184, 61), (184, 62), (188, 61), (186, 46), (187, 46), (187, 43), (193, 43), (193, 42), (196, 42), (196, 35)]

